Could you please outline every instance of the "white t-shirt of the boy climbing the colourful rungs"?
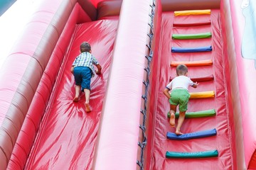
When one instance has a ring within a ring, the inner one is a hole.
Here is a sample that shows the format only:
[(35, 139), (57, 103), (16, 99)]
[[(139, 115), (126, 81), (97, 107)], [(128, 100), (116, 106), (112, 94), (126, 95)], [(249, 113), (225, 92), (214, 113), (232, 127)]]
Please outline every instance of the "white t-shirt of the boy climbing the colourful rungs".
[(169, 90), (176, 88), (183, 88), (188, 90), (188, 86), (193, 86), (193, 84), (193, 81), (188, 77), (178, 76), (175, 77), (169, 84), (167, 84), (166, 88)]

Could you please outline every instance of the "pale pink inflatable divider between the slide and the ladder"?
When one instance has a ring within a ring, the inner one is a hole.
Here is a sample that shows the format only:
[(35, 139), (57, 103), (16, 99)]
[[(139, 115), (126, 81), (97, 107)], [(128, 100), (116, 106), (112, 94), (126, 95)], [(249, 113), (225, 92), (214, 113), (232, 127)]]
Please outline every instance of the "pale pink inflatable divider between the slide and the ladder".
[(149, 1), (122, 2), (94, 169), (137, 169)]

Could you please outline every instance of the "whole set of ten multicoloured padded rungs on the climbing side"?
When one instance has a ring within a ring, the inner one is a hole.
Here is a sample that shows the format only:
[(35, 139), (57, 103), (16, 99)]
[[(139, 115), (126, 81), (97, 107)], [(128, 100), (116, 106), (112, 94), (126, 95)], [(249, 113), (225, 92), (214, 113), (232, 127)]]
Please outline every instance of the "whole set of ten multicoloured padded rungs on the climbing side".
[[(179, 16), (195, 16), (195, 15), (209, 15), (210, 10), (192, 10), (192, 11), (174, 11), (174, 28), (178, 30), (178, 28), (184, 27), (198, 27), (198, 26), (206, 26), (210, 25), (210, 20), (206, 20), (205, 22), (198, 22), (198, 23), (176, 23), (175, 18)], [(201, 40), (204, 38), (211, 38), (212, 33), (195, 33), (195, 34), (180, 34), (180, 33), (173, 33), (171, 38), (174, 41), (184, 41), (184, 40)], [(211, 52), (213, 47), (211, 44), (207, 44), (201, 47), (171, 47), (171, 52), (182, 52), (182, 53), (194, 53), (194, 52)], [(183, 61), (183, 59), (179, 61), (171, 61), (170, 66), (176, 67), (178, 64), (186, 64), (186, 66), (190, 67), (189, 69), (193, 69), (193, 67), (201, 67), (201, 66), (212, 66), (213, 60), (206, 59), (206, 60), (195, 60), (195, 61)], [(170, 77), (174, 79), (174, 77)], [(193, 77), (191, 78), (193, 81), (213, 81), (214, 77), (213, 74), (206, 77)], [(214, 91), (200, 91), (190, 93), (191, 98), (214, 98), (215, 92)], [(187, 112), (186, 118), (202, 118), (208, 116), (215, 116), (216, 112), (215, 109), (210, 109), (207, 111), (196, 111), (196, 112)], [(167, 117), (170, 118), (170, 114), (167, 113)], [(178, 118), (178, 113), (176, 113), (176, 118)], [(215, 128), (210, 130), (202, 130), (198, 132), (190, 132), (184, 135), (176, 135), (172, 132), (167, 132), (166, 137), (169, 140), (191, 140), (196, 138), (202, 137), (210, 137), (217, 134), (217, 130)], [(206, 157), (218, 157), (218, 150), (213, 148), (212, 150), (203, 150), (200, 152), (166, 152), (166, 158), (206, 158)]]

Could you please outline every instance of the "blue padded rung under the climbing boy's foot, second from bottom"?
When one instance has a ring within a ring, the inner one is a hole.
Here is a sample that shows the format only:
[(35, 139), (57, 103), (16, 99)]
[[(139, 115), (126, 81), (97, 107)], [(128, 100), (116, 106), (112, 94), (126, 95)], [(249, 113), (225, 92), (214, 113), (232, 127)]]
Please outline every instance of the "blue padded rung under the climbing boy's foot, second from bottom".
[(196, 139), (201, 137), (215, 136), (216, 134), (217, 134), (217, 130), (212, 129), (212, 130), (203, 130), (198, 132), (186, 133), (183, 135), (176, 135), (175, 133), (167, 132), (166, 137), (169, 140), (191, 140), (191, 139)]

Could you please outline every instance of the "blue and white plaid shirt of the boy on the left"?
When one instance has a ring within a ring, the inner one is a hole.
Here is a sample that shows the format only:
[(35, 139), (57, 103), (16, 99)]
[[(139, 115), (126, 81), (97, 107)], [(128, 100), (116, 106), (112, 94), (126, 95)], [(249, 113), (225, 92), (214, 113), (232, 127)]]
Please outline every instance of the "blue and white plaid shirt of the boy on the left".
[(97, 62), (96, 58), (93, 55), (91, 55), (90, 52), (82, 52), (80, 55), (78, 55), (78, 57), (75, 58), (75, 61), (73, 62), (72, 66), (89, 67), (92, 70), (92, 76), (94, 76), (95, 68), (93, 67), (93, 64), (97, 65), (99, 64), (99, 62)]

